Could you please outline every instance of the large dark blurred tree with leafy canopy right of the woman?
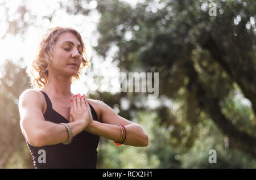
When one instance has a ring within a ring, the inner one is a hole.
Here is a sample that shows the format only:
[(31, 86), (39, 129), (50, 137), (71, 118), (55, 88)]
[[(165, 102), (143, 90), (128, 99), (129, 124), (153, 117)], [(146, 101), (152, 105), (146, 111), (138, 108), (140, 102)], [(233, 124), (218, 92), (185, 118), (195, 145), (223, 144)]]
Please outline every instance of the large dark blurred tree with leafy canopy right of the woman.
[[(73, 8), (85, 3), (74, 2)], [(101, 18), (94, 49), (106, 57), (110, 47), (117, 46), (113, 60), (121, 71), (159, 72), (159, 95), (184, 101), (182, 123), (163, 119), (175, 127), (171, 135), (176, 142), (185, 141), (184, 151), (193, 146), (197, 137), (193, 128), (204, 112), (229, 138), (230, 148), (256, 158), (255, 1), (214, 1), (213, 16), (206, 0), (145, 0), (136, 7), (117, 0), (96, 2)], [(232, 123), (233, 115), (223, 112), (235, 84), (253, 109), (251, 121), (239, 126)], [(160, 117), (168, 114), (164, 109), (159, 108)], [(187, 127), (184, 123), (191, 125), (187, 134), (181, 133)]]

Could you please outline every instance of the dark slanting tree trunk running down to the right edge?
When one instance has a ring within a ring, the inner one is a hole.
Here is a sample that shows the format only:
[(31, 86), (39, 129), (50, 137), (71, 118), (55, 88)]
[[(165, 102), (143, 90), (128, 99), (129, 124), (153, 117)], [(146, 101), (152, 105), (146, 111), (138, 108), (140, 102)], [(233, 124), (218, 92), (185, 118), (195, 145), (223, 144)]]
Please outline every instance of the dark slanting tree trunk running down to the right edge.
[(218, 103), (219, 99), (207, 95), (207, 90), (200, 81), (192, 61), (187, 62), (186, 66), (189, 67), (187, 75), (190, 78), (187, 89), (196, 96), (200, 109), (207, 112), (222, 133), (229, 137), (231, 148), (241, 149), (256, 158), (256, 139), (246, 132), (238, 130), (238, 128), (232, 125), (229, 119), (221, 113), (221, 108)]

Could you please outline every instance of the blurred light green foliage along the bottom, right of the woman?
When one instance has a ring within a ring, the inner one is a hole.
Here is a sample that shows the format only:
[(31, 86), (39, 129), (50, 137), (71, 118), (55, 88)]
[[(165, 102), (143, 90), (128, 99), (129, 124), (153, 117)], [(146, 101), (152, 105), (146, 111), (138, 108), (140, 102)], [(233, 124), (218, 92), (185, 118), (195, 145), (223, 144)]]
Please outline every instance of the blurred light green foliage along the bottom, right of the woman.
[[(255, 168), (256, 160), (250, 155), (229, 149), (228, 138), (223, 136), (205, 114), (204, 120), (194, 129), (197, 138), (193, 146), (187, 148), (179, 142), (179, 146), (171, 145), (174, 136), (171, 128), (160, 125), (156, 113), (141, 112), (136, 117), (149, 138), (148, 147), (129, 147), (115, 145), (110, 140), (101, 138), (98, 147), (97, 168)], [(189, 126), (189, 125), (187, 125)], [(189, 134), (189, 128), (184, 130)], [(217, 163), (210, 164), (209, 150), (217, 152)]]

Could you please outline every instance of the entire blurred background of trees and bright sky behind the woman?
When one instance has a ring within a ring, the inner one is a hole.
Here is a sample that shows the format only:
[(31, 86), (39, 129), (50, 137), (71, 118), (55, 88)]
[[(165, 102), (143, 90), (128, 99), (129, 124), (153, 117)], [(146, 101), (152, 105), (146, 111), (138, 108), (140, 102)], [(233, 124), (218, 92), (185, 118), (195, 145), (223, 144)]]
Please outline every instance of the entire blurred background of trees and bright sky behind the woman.
[[(254, 0), (1, 0), (0, 168), (34, 168), (18, 98), (32, 88), (26, 65), (40, 36), (57, 25), (81, 33), (92, 62), (72, 92), (104, 101), (148, 134), (143, 148), (101, 138), (97, 168), (256, 168), (255, 7)], [(158, 98), (119, 92), (120, 72), (159, 72)]]

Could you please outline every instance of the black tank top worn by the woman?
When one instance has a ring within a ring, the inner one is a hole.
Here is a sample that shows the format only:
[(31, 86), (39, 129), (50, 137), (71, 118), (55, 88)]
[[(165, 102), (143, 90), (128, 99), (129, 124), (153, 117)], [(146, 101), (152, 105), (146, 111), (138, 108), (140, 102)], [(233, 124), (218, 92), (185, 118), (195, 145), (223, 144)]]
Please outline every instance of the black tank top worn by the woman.
[[(52, 108), (52, 102), (43, 91), (46, 98), (47, 109), (44, 113), (46, 121), (54, 123), (68, 123), (69, 121)], [(97, 114), (90, 105), (92, 117), (94, 121), (98, 121)], [(97, 147), (100, 136), (82, 131), (77, 134), (70, 145), (62, 143), (55, 145), (44, 145), (43, 147), (35, 147), (27, 142), (28, 148), (32, 154), (34, 166), (36, 168), (96, 168), (97, 163)], [(44, 151), (40, 151), (43, 149)], [(45, 153), (44, 153), (45, 152)], [(45, 155), (45, 162), (43, 161)]]

